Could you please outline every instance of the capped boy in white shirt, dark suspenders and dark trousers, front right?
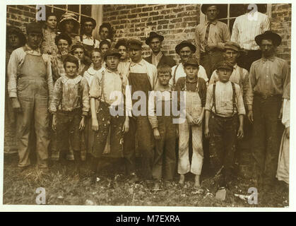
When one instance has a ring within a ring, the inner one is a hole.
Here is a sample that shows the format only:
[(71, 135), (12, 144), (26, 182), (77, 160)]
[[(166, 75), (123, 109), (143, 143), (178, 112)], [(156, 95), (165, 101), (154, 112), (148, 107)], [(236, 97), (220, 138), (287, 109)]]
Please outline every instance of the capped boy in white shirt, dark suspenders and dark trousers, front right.
[[(208, 86), (206, 93), (205, 136), (210, 139), (210, 161), (215, 172), (221, 170), (219, 188), (230, 183), (237, 138), (244, 136), (244, 101), (239, 85), (229, 81), (233, 66), (220, 61), (217, 66), (219, 81)], [(239, 126), (237, 125), (239, 121)], [(238, 128), (238, 130), (237, 130)]]

